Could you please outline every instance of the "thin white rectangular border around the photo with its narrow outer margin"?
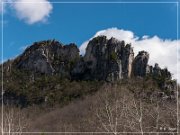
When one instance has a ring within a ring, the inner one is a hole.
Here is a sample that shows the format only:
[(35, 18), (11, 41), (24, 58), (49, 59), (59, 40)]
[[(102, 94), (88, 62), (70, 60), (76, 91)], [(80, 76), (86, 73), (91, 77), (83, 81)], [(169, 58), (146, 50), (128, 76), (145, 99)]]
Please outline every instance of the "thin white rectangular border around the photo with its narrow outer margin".
[[(48, 1), (50, 2), (50, 1)], [(40, 3), (48, 3), (48, 2), (36, 2), (38, 4)], [(1, 94), (2, 94), (2, 101), (1, 101), (1, 117), (2, 117), (2, 135), (4, 134), (18, 134), (18, 133), (22, 133), (22, 134), (113, 134), (114, 132), (4, 132), (3, 131), (3, 94), (4, 94), (4, 90), (3, 90), (3, 62), (4, 62), (4, 59), (3, 59), (3, 50), (4, 50), (4, 47), (3, 47), (3, 43), (4, 43), (4, 24), (3, 24), (3, 20), (4, 20), (4, 4), (12, 4), (12, 3), (34, 3), (34, 2), (4, 2), (4, 1), (1, 1), (1, 5), (2, 5), (2, 15), (1, 15), (1, 27), (2, 27), (2, 31), (1, 31), (1, 40), (2, 40), (2, 45), (1, 45), (1, 63), (2, 63), (2, 73), (1, 73), (1, 77), (2, 77), (2, 91), (1, 91)], [(176, 24), (176, 27), (177, 27), (177, 31), (176, 31), (176, 34), (177, 34), (177, 41), (179, 39), (179, 1), (177, 2), (151, 2), (151, 1), (147, 1), (147, 2), (120, 2), (120, 1), (117, 1), (117, 2), (90, 2), (90, 1), (87, 1), (87, 2), (81, 2), (81, 1), (77, 1), (77, 2), (50, 2), (50, 3), (57, 3), (57, 4), (176, 4), (176, 7), (177, 7), (177, 24)], [(177, 75), (178, 75), (178, 70), (179, 70), (179, 63), (178, 63), (178, 58), (179, 58), (179, 53), (178, 53), (178, 50), (179, 50), (179, 46), (178, 46), (178, 42), (177, 42)], [(179, 90), (178, 90), (178, 86), (177, 86), (177, 131), (176, 132), (143, 132), (143, 134), (178, 134), (179, 133)], [(142, 134), (142, 132), (116, 132), (117, 134)]]

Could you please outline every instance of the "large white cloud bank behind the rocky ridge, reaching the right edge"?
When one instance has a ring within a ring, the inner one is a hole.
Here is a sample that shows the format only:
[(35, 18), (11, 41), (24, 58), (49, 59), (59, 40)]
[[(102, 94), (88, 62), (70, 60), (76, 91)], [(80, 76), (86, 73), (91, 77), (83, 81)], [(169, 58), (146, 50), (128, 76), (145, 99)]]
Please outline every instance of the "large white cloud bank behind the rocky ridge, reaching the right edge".
[[(177, 54), (180, 54), (180, 50), (177, 49), (177, 44), (180, 45), (180, 40), (163, 40), (158, 36), (149, 37), (148, 35), (144, 35), (139, 38), (135, 36), (132, 31), (117, 28), (101, 30), (97, 32), (93, 37), (97, 37), (99, 35), (105, 35), (108, 37), (108, 39), (114, 37), (118, 40), (125, 40), (126, 43), (132, 43), (135, 56), (141, 50), (149, 52), (150, 65), (158, 63), (162, 68), (167, 67), (173, 74), (173, 77), (178, 79), (178, 81), (180, 82), (180, 71), (177, 72), (177, 65), (180, 62), (180, 60), (177, 61)], [(84, 55), (85, 53), (88, 41), (84, 42), (80, 46), (80, 53), (82, 55)]]

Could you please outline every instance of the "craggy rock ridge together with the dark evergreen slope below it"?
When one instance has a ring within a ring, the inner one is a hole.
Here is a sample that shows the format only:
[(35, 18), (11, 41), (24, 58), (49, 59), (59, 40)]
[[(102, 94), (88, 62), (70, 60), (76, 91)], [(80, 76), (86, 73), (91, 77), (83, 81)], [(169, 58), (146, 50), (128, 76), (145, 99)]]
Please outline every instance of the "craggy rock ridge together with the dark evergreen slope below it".
[[(102, 81), (114, 83), (136, 78), (153, 80), (165, 95), (175, 98), (177, 84), (171, 73), (158, 64), (148, 65), (149, 57), (146, 51), (134, 56), (131, 44), (106, 36), (89, 41), (84, 56), (74, 43), (35, 42), (17, 58), (3, 64), (4, 102), (36, 104), (45, 102), (47, 97), (53, 102), (56, 98), (66, 101), (96, 91), (98, 88), (91, 85), (98, 86)], [(68, 95), (71, 88), (66, 83), (72, 87), (77, 85), (77, 91), (72, 90)], [(82, 91), (83, 87), (90, 88)]]

